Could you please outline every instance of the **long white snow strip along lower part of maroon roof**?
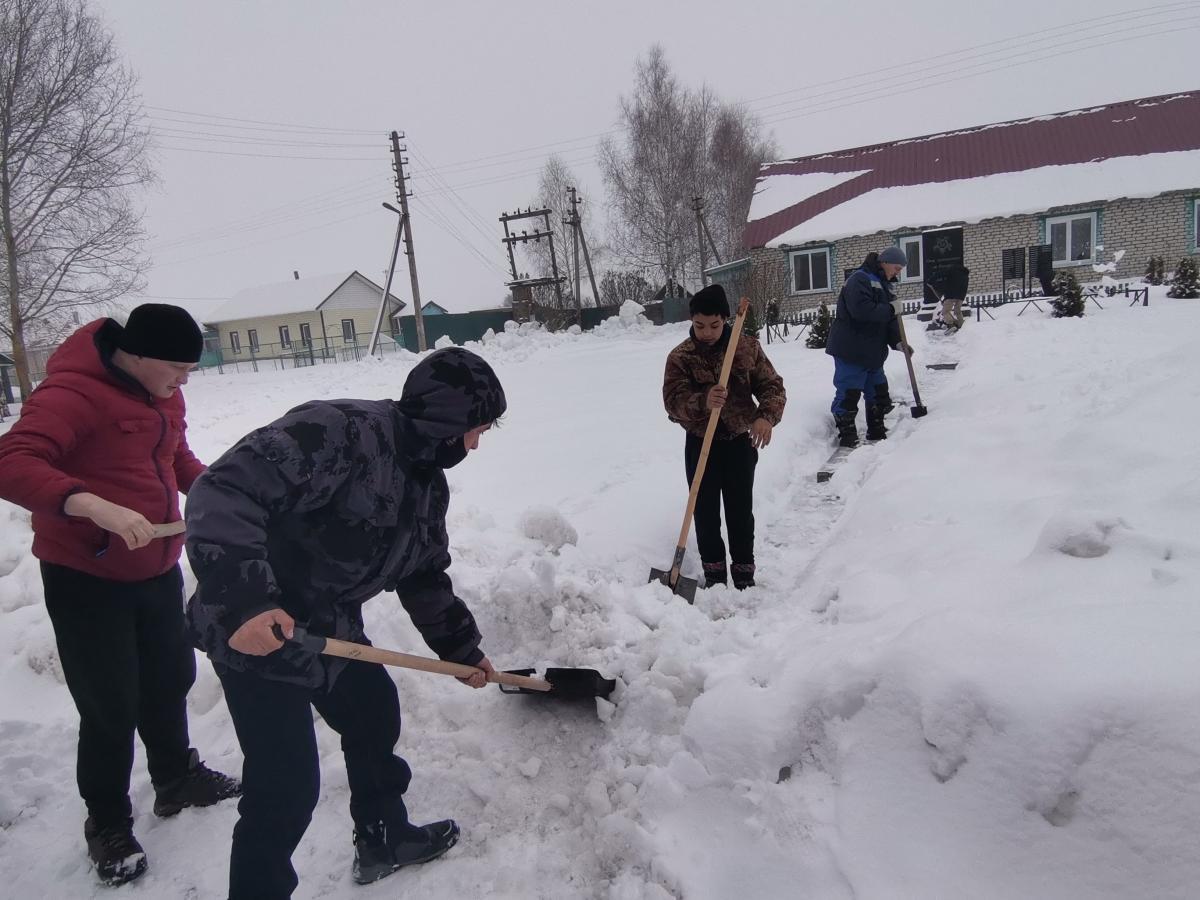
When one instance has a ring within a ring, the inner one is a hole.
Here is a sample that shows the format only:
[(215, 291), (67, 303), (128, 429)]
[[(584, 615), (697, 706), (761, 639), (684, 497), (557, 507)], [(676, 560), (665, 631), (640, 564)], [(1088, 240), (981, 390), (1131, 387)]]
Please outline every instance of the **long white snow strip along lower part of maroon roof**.
[[(1200, 150), (1180, 150), (1043, 166), (958, 181), (881, 187), (818, 212), (773, 238), (767, 246), (833, 241), (949, 222), (976, 223), (1104, 199), (1157, 197), (1165, 191), (1194, 188), (1198, 172)], [(754, 217), (751, 211), (751, 221)]]

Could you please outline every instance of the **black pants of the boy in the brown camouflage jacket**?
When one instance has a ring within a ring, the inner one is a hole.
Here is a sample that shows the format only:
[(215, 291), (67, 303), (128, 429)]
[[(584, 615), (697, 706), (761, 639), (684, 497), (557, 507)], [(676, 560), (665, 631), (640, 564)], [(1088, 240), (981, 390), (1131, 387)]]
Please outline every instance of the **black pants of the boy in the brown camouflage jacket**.
[[(700, 462), (703, 440), (688, 434), (684, 444), (684, 469), (691, 484)], [(725, 541), (721, 540), (721, 499), (725, 500), (725, 526), (730, 534), (730, 562), (733, 565), (754, 565), (754, 470), (758, 451), (749, 434), (731, 440), (713, 440), (708, 466), (696, 497), (696, 544), (703, 563), (725, 563)]]

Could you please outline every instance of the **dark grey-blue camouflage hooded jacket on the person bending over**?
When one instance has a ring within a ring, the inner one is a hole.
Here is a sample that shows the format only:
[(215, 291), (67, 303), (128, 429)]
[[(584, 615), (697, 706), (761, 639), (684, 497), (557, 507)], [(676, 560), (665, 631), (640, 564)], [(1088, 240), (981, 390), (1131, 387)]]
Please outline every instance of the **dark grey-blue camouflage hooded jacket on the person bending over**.
[(282, 608), (313, 634), (366, 642), (362, 604), (395, 590), (438, 656), (482, 659), (446, 574), (443, 469), (466, 457), (462, 436), (504, 408), (491, 367), (454, 348), (422, 360), (398, 402), (314, 401), (239, 440), (188, 494), (196, 646), (218, 667), (329, 685), (343, 660), (288, 644), (248, 656), (229, 636)]

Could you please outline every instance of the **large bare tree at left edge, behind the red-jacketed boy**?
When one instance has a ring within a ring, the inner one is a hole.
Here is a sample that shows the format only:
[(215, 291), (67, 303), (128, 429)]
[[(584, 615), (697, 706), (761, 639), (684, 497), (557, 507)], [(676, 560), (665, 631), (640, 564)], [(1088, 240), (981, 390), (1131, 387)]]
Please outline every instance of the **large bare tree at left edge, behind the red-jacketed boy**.
[(154, 179), (132, 72), (83, 0), (0, 2), (4, 310), (24, 396), (26, 348), (144, 287), (133, 188)]

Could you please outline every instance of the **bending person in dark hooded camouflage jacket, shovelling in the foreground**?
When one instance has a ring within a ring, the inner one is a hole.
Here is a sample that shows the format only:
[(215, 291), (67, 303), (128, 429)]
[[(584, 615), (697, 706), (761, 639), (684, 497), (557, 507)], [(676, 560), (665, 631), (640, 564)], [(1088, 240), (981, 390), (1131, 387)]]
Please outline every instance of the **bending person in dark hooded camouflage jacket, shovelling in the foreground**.
[(192, 486), (188, 622), (245, 756), (230, 900), (287, 898), (296, 887), (290, 857), (320, 788), (312, 708), (342, 737), (355, 881), (457, 841), (452, 820), (408, 820), (412, 770), (395, 754), (400, 701), (383, 666), (316, 655), (278, 634), (290, 637), (299, 622), (368, 643), (362, 604), (395, 590), (430, 648), (478, 667), (470, 686), (486, 684), (492, 665), (446, 572), (444, 469), (479, 445), (505, 406), (482, 359), (439, 350), (409, 373), (400, 401), (305, 403), (244, 437)]

